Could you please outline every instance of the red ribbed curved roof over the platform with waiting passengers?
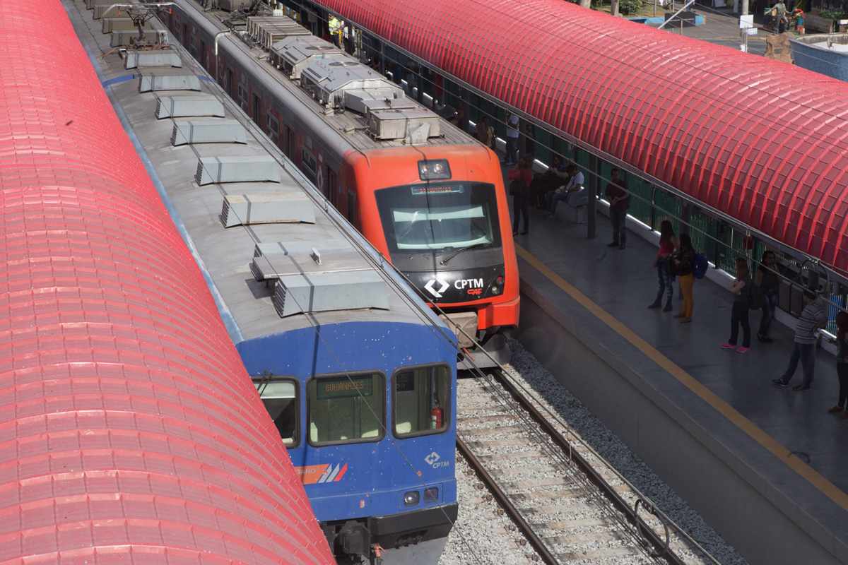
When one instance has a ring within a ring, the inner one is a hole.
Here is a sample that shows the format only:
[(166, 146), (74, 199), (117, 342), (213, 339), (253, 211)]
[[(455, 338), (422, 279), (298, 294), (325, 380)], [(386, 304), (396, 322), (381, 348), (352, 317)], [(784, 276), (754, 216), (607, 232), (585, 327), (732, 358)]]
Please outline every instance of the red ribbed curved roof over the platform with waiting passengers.
[(563, 0), (318, 3), (848, 271), (844, 82)]

